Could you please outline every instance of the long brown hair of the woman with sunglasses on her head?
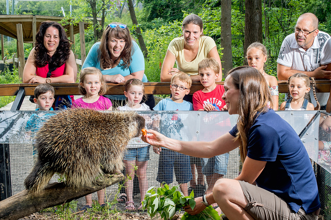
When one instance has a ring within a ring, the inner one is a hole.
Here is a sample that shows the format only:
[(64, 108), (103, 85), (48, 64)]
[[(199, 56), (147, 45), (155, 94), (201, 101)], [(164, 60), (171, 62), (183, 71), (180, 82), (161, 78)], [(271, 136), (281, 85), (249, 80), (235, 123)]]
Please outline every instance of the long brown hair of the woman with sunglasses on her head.
[[(114, 24), (119, 24), (118, 22), (113, 22)], [(130, 63), (132, 61), (131, 54), (133, 53), (133, 44), (132, 37), (130, 35), (129, 29), (126, 27), (125, 29), (120, 28), (119, 26), (115, 28), (107, 27), (101, 37), (100, 40), (100, 48), (99, 48), (99, 59), (103, 68), (110, 68), (115, 64), (115, 60), (112, 60), (110, 56), (110, 52), (108, 49), (108, 41), (110, 36), (114, 33), (114, 37), (116, 39), (123, 39), (125, 41), (124, 49), (119, 55), (118, 59), (122, 59), (123, 63), (120, 64), (125, 69), (129, 68)]]

